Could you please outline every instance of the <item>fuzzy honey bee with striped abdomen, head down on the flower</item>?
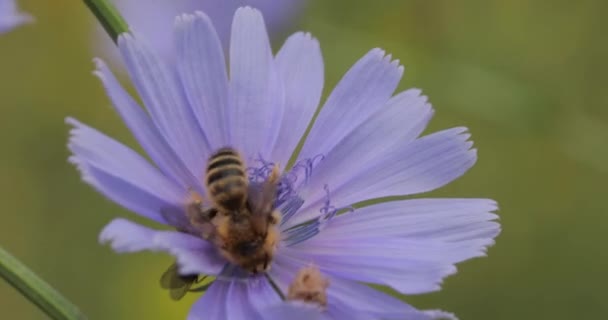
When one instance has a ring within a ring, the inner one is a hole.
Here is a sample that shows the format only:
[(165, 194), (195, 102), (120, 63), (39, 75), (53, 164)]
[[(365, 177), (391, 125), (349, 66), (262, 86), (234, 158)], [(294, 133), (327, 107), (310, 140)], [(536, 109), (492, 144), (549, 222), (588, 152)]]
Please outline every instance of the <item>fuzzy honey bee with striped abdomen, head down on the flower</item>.
[(192, 193), (186, 215), (203, 238), (231, 263), (254, 274), (268, 270), (279, 240), (280, 213), (274, 209), (279, 168), (262, 183), (251, 183), (245, 163), (232, 148), (208, 160), (205, 184), (211, 206)]

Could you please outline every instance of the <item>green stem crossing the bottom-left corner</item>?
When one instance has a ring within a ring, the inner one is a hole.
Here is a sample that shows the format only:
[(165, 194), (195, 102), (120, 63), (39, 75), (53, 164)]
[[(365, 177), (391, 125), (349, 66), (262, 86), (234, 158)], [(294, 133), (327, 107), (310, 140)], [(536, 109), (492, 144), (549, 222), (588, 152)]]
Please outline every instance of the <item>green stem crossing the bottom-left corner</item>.
[(83, 320), (76, 306), (11, 254), (0, 248), (0, 277), (55, 320)]

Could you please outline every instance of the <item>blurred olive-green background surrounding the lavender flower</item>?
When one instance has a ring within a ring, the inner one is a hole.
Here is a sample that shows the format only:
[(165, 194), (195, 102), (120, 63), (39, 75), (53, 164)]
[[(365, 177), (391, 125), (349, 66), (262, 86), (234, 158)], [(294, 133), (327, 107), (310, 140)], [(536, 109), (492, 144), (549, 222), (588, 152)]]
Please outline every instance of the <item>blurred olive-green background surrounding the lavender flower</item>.
[[(0, 244), (91, 319), (184, 319), (196, 295), (176, 303), (158, 285), (171, 258), (100, 246), (108, 221), (134, 216), (66, 161), (68, 115), (132, 143), (91, 75), (96, 22), (81, 1), (20, 4), (37, 23), (0, 37)], [(429, 95), (429, 131), (470, 128), (477, 165), (431, 195), (500, 204), (489, 256), (407, 301), (468, 320), (608, 317), (606, 12), (601, 0), (312, 0), (302, 12), (292, 29), (320, 40), (327, 88), (382, 47), (406, 66), (400, 88)], [(2, 281), (0, 312), (46, 319)]]

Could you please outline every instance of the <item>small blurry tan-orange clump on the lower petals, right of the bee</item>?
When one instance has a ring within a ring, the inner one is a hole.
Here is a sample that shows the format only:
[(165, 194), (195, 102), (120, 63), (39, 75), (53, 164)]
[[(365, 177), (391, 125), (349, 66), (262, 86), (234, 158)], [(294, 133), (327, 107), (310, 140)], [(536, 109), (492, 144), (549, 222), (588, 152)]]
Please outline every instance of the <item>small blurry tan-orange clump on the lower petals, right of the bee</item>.
[(319, 269), (309, 266), (300, 269), (293, 282), (287, 289), (287, 300), (303, 301), (316, 304), (322, 308), (327, 307), (327, 280)]

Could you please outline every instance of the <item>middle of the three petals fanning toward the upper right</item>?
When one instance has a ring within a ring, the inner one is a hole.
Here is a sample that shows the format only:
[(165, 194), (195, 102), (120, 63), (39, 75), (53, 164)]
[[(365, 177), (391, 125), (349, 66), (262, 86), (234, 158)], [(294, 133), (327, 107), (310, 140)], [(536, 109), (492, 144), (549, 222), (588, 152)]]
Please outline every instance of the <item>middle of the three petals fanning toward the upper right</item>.
[(370, 164), (382, 161), (400, 145), (407, 145), (424, 130), (433, 115), (427, 98), (412, 89), (391, 98), (381, 110), (372, 115), (346, 136), (314, 168), (302, 197), (308, 205), (324, 200), (324, 185), (332, 193), (349, 181), (353, 174), (365, 171)]

